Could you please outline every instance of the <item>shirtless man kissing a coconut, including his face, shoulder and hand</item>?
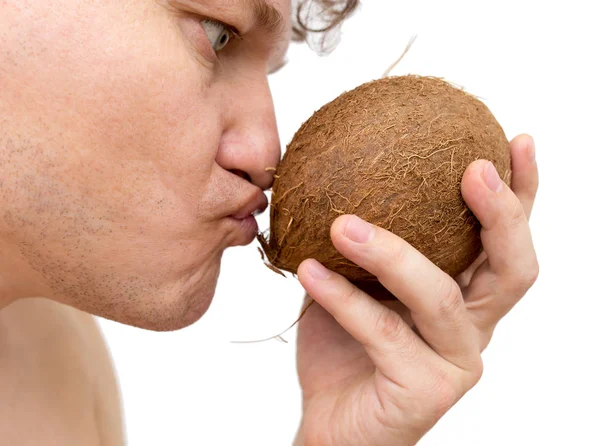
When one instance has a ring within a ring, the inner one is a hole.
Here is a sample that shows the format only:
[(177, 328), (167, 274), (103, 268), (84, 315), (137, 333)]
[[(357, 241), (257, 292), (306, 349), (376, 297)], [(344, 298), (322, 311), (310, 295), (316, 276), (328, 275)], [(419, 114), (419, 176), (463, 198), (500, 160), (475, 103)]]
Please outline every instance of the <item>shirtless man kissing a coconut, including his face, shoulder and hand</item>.
[[(323, 0), (325, 20), (355, 3)], [(251, 242), (267, 204), (267, 75), (292, 16), (288, 0), (0, 0), (2, 445), (123, 444), (90, 315), (175, 330), (206, 312), (223, 251)], [(397, 300), (301, 265), (318, 305), (299, 327), (297, 445), (414, 444), (478, 381), (537, 276), (533, 141), (511, 150), (512, 190), (484, 160), (464, 175), (485, 254), (458, 278), (353, 216), (335, 246)]]

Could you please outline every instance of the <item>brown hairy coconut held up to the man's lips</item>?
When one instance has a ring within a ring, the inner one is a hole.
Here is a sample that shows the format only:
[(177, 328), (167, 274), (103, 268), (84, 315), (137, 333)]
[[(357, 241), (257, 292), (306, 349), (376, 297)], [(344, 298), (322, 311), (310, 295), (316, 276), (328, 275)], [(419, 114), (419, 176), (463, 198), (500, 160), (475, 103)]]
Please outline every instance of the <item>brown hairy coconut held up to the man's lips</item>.
[(482, 250), (460, 183), (490, 160), (510, 181), (509, 142), (490, 110), (443, 79), (387, 77), (346, 92), (306, 121), (277, 167), (268, 237), (278, 270), (314, 258), (355, 283), (377, 279), (343, 257), (330, 228), (344, 214), (393, 232), (451, 276)]

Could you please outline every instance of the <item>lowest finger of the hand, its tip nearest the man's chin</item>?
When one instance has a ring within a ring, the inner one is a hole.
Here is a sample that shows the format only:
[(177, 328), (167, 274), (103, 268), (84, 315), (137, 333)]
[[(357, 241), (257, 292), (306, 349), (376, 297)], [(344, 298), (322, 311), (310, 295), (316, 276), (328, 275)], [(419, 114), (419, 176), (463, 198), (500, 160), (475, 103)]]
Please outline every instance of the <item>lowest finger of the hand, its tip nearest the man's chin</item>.
[(365, 347), (386, 376), (393, 379), (401, 371), (404, 379), (417, 380), (423, 373), (419, 363), (440, 360), (398, 313), (316, 260), (300, 264), (298, 279), (307, 293)]

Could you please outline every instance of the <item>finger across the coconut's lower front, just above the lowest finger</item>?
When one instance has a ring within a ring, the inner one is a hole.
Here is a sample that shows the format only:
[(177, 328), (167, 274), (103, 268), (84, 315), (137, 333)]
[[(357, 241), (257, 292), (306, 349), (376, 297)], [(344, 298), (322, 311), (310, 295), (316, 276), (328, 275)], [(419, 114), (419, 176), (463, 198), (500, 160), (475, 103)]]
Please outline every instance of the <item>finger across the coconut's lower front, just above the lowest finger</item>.
[[(443, 358), (469, 368), (473, 327), (457, 283), (410, 244), (353, 215), (332, 225), (336, 249), (373, 274), (411, 313), (425, 341)], [(477, 350), (477, 356), (479, 351)]]

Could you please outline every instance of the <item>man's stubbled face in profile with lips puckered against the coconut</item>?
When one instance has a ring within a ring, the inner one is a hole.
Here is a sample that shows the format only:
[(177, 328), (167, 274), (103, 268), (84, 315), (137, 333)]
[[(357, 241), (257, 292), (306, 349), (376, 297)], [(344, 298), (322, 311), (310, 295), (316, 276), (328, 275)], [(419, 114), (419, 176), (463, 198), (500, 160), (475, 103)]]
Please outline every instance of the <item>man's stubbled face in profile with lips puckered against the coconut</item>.
[(289, 19), (289, 0), (0, 0), (12, 274), (127, 324), (196, 321), (266, 205)]

